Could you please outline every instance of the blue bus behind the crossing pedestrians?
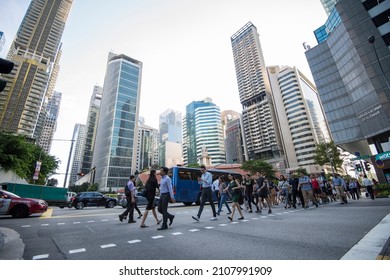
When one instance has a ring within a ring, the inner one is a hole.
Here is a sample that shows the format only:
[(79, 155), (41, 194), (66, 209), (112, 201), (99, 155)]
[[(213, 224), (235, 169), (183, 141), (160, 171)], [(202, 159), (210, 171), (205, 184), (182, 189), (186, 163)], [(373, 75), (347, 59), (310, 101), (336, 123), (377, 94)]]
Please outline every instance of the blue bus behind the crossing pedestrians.
[[(241, 174), (223, 170), (208, 169), (213, 175), (213, 182), (219, 176), (223, 176), (225, 182), (228, 181), (228, 175), (233, 174), (236, 179), (240, 179)], [(184, 205), (192, 205), (194, 202), (196, 205), (200, 204), (201, 189), (200, 184), (198, 183), (198, 178), (202, 176), (200, 168), (189, 168), (189, 167), (180, 167), (175, 166), (169, 169), (168, 176), (172, 179), (173, 193), (175, 196), (176, 202), (183, 202)], [(217, 200), (217, 197), (213, 194), (214, 201)]]

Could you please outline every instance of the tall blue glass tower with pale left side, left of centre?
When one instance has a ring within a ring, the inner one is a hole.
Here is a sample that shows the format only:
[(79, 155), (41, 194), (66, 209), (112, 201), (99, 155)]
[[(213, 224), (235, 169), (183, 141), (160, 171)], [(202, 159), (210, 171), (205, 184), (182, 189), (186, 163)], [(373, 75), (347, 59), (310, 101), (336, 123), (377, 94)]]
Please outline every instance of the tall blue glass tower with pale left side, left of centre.
[(136, 171), (142, 62), (110, 53), (92, 166), (100, 190), (123, 188)]

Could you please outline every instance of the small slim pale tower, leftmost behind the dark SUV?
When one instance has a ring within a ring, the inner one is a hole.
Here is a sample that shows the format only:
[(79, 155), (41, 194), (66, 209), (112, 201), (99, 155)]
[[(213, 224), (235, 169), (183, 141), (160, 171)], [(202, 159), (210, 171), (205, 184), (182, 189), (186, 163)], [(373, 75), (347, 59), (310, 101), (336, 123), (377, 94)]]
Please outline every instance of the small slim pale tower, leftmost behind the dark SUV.
[(73, 186), (80, 177), (81, 161), (83, 158), (83, 147), (85, 144), (86, 125), (76, 123), (73, 130), (72, 140), (74, 141), (74, 149), (71, 155), (71, 170), (69, 176), (69, 186)]

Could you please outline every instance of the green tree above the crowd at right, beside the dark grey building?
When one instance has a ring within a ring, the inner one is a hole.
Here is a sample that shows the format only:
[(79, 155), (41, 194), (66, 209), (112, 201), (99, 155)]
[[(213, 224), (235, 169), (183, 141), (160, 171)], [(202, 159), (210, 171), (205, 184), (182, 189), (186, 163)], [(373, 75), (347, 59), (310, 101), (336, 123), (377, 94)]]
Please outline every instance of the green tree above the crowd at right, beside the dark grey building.
[(318, 165), (330, 164), (333, 170), (341, 168), (343, 160), (340, 157), (341, 153), (333, 141), (320, 143), (315, 150), (314, 161)]

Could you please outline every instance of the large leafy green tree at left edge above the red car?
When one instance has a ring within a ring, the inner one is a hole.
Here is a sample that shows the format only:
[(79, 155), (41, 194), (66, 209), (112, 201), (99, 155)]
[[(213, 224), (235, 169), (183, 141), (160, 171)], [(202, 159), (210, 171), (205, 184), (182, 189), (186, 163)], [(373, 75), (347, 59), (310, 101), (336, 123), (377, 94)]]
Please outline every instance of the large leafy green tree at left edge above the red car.
[(35, 183), (44, 185), (46, 177), (57, 170), (59, 159), (48, 155), (41, 147), (23, 135), (0, 132), (0, 166), (2, 169), (12, 171), (29, 183), (33, 183), (32, 177), (38, 160), (42, 164), (39, 178), (35, 180)]

